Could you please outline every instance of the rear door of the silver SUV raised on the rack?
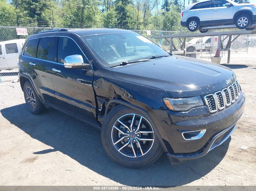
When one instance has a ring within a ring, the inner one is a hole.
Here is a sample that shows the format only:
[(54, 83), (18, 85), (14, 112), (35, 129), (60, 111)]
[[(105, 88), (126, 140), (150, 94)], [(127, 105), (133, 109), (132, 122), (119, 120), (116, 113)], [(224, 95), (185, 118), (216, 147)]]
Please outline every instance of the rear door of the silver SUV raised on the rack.
[(214, 9), (213, 1), (206, 1), (197, 4), (195, 7), (195, 16), (200, 19), (201, 25), (208, 25), (212, 22), (212, 12)]

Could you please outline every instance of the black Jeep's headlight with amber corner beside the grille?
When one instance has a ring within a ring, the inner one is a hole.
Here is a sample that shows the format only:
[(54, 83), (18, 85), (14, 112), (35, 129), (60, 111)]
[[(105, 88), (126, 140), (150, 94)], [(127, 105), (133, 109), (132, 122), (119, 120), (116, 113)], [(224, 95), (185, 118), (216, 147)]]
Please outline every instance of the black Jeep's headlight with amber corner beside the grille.
[(188, 111), (193, 107), (203, 106), (203, 100), (200, 96), (188, 98), (163, 98), (163, 101), (169, 110)]

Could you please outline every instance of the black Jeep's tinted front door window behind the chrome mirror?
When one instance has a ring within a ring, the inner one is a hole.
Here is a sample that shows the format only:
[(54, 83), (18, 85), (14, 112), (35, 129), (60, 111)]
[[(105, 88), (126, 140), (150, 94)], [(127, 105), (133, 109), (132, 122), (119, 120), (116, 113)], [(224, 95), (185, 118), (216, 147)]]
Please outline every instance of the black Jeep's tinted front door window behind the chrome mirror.
[[(64, 63), (64, 59), (66, 56), (70, 55), (81, 55), (83, 58), (85, 57), (82, 51), (79, 49), (74, 40), (65, 37), (59, 37), (58, 41), (58, 62)], [(85, 58), (84, 58), (85, 61)]]

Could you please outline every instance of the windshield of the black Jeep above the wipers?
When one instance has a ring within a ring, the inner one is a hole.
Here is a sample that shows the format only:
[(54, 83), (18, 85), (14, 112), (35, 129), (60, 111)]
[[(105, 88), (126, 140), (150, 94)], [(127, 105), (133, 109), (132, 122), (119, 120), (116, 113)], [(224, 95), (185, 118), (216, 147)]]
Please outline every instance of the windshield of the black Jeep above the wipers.
[(138, 33), (109, 33), (83, 36), (81, 39), (101, 64), (109, 67), (125, 61), (170, 56), (165, 50)]

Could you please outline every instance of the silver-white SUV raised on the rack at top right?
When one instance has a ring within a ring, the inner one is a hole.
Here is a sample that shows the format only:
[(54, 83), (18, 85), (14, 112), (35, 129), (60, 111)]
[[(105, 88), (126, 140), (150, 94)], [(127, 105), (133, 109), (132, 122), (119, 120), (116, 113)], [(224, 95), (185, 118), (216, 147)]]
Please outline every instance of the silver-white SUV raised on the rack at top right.
[[(256, 5), (238, 4), (230, 0), (206, 0), (188, 5), (182, 12), (181, 26), (194, 32), (202, 27), (235, 24), (239, 29), (256, 23)], [(204, 33), (208, 30), (200, 30)]]

